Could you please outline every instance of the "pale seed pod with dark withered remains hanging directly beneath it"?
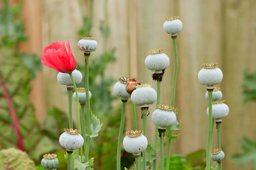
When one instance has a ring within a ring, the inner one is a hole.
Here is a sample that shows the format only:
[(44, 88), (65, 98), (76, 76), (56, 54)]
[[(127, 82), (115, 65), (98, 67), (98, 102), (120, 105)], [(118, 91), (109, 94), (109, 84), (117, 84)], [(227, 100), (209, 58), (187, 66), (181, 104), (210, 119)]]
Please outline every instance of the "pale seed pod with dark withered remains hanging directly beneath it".
[(151, 50), (148, 53), (149, 55), (145, 59), (145, 65), (148, 69), (155, 71), (155, 73), (162, 73), (163, 69), (169, 66), (170, 59), (163, 49)]

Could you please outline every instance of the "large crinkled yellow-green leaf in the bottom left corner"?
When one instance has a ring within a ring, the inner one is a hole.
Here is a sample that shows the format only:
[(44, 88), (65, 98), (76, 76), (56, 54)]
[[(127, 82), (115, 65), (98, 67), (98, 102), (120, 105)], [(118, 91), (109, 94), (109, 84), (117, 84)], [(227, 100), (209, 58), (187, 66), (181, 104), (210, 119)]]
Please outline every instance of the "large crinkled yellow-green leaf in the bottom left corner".
[(36, 169), (28, 154), (15, 148), (0, 151), (0, 165), (1, 169)]

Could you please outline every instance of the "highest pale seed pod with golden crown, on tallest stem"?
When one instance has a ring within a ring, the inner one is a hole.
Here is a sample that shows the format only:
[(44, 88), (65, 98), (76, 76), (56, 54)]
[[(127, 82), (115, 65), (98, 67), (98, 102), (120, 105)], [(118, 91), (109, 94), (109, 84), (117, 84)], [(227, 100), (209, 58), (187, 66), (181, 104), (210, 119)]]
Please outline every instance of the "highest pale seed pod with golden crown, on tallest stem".
[(164, 31), (172, 36), (177, 36), (177, 33), (182, 29), (182, 22), (178, 19), (179, 16), (166, 17), (164, 22)]

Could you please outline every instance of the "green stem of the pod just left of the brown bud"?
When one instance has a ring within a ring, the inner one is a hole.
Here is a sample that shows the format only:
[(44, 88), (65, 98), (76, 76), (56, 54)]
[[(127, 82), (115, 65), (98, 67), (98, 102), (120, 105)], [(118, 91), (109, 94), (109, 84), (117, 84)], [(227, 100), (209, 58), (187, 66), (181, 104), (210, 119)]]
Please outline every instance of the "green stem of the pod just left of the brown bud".
[(121, 169), (121, 142), (123, 138), (123, 132), (124, 132), (124, 124), (125, 124), (125, 106), (126, 101), (122, 101), (122, 115), (121, 115), (121, 123), (120, 123), (120, 129), (118, 133), (118, 143), (117, 143), (117, 153), (116, 153), (116, 169)]

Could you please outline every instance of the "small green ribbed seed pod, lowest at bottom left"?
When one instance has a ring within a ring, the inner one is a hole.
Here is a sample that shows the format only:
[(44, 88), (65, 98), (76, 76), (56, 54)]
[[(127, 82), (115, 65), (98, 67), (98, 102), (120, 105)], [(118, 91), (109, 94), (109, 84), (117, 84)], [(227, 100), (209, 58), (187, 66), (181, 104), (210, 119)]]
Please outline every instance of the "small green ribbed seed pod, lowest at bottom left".
[(56, 154), (45, 154), (41, 160), (41, 165), (45, 169), (56, 169), (59, 166), (59, 160)]

